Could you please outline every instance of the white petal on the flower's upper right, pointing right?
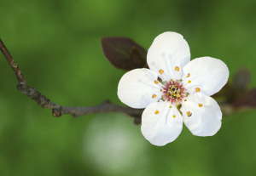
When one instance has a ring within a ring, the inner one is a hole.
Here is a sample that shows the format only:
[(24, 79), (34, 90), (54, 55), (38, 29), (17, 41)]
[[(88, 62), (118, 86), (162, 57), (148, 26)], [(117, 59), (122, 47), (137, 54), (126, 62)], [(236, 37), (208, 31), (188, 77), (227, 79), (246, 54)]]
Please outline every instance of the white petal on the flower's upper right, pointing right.
[[(200, 88), (201, 93), (211, 96), (224, 87), (230, 75), (223, 61), (211, 57), (191, 60), (183, 68), (183, 85), (188, 91)], [(190, 74), (190, 77), (187, 77)], [(188, 83), (191, 81), (190, 83)]]

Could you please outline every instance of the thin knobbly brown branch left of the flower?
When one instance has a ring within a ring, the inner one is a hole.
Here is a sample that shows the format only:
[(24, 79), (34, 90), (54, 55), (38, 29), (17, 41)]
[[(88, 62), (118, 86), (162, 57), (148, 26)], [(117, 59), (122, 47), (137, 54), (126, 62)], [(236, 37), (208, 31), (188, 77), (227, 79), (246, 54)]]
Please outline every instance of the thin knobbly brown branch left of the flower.
[(71, 114), (72, 116), (84, 116), (89, 114), (104, 113), (104, 112), (120, 112), (125, 113), (129, 116), (135, 117), (135, 123), (141, 123), (141, 116), (143, 114), (143, 109), (133, 109), (130, 107), (124, 107), (120, 105), (113, 105), (110, 101), (104, 101), (102, 105), (88, 106), (88, 107), (71, 107), (71, 106), (61, 106), (54, 102), (51, 102), (44, 94), (39, 93), (35, 88), (31, 88), (26, 84), (26, 79), (23, 77), (20, 68), (18, 67), (15, 60), (9, 54), (8, 49), (4, 46), (0, 38), (0, 50), (2, 51), (4, 57), (9, 62), (12, 70), (15, 72), (15, 76), (19, 84), (17, 88), (21, 93), (26, 94), (26, 96), (37, 101), (38, 105), (42, 108), (48, 108), (52, 110), (53, 116), (62, 116), (62, 114)]

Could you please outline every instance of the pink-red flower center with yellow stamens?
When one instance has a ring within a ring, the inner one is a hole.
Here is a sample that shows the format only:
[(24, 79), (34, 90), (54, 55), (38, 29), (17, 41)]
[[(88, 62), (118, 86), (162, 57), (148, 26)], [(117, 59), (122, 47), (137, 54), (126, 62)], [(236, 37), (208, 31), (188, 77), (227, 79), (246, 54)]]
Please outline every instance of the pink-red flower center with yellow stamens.
[(179, 103), (186, 94), (184, 93), (183, 84), (177, 81), (166, 82), (163, 90), (163, 98), (171, 101), (172, 104)]

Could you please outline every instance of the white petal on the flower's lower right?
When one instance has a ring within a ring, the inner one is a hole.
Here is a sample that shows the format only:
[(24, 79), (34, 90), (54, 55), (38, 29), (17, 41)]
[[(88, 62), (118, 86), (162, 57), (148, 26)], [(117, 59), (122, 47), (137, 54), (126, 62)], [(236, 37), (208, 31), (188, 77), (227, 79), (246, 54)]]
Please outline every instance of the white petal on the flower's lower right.
[[(217, 102), (206, 94), (189, 94), (187, 101), (182, 102), (180, 111), (183, 122), (196, 136), (212, 136), (221, 126), (222, 112)], [(192, 113), (191, 116), (187, 115), (188, 111)]]

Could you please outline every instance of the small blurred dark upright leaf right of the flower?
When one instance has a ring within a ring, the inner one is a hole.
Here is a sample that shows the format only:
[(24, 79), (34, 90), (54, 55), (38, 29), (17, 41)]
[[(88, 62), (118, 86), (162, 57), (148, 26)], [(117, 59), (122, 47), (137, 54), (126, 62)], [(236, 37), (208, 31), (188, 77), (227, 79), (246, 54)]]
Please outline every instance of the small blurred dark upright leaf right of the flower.
[(244, 91), (247, 89), (250, 81), (250, 71), (248, 71), (246, 68), (243, 68), (239, 71), (236, 71), (236, 75), (233, 78), (233, 85), (237, 91)]

